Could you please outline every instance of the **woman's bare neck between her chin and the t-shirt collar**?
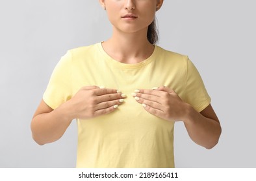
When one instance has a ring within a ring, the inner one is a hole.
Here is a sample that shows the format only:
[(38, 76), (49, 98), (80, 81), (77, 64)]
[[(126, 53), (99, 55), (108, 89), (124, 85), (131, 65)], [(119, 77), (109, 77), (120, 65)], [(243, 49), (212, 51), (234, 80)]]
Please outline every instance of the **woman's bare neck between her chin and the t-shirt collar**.
[(122, 63), (139, 63), (149, 58), (154, 46), (147, 40), (145, 30), (136, 33), (123, 33), (114, 30), (112, 37), (102, 43), (110, 57)]

